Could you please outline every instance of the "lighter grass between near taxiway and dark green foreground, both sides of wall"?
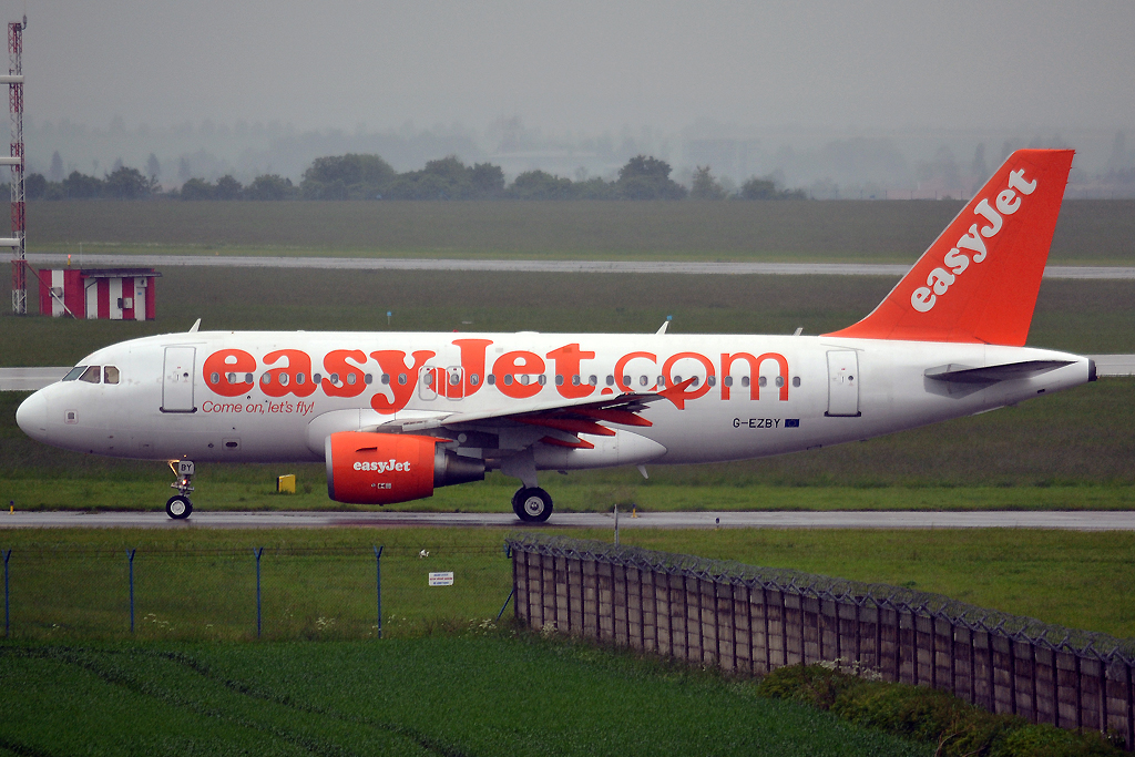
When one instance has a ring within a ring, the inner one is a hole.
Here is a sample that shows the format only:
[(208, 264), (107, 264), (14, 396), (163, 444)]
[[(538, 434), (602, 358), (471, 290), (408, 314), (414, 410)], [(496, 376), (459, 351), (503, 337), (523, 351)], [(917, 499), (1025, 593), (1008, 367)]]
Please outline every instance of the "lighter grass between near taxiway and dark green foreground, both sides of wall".
[[(505, 535), (401, 528), (0, 530), (0, 549), (12, 549), (11, 619), (20, 638), (131, 638), (126, 549), (136, 548), (136, 638), (251, 639), (252, 549), (264, 547), (263, 637), (350, 640), (375, 637), (373, 546), (385, 546), (384, 636), (406, 638), (430, 629), (478, 628), (496, 617), (512, 586)], [(585, 529), (571, 536), (612, 538), (609, 531)], [(622, 531), (620, 540), (915, 587), (1049, 623), (1135, 637), (1135, 533), (634, 529)], [(429, 571), (451, 570), (453, 587), (427, 586)]]

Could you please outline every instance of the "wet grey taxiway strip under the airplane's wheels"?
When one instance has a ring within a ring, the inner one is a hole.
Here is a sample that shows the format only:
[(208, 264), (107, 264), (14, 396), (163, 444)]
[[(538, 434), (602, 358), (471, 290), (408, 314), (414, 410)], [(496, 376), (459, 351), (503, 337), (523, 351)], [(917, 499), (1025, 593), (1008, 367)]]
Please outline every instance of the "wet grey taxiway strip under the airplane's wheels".
[[(556, 513), (547, 523), (521, 523), (512, 513), (410, 512), (208, 512), (185, 521), (165, 512), (0, 512), (5, 529), (309, 529), (309, 528), (505, 528), (611, 529), (613, 513)], [(622, 529), (989, 529), (1023, 528), (1063, 531), (1135, 531), (1135, 512), (699, 512), (621, 513)]]

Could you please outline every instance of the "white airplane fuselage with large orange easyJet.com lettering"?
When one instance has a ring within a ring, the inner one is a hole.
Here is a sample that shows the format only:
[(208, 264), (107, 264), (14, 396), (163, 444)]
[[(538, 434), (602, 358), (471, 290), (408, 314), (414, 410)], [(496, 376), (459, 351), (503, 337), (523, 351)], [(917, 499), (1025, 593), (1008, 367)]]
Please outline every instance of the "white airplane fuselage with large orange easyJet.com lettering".
[[(1023, 361), (1067, 364), (992, 384), (926, 376), (943, 365)], [(118, 457), (314, 462), (336, 431), (461, 414), (488, 420), (448, 428), (457, 454), (491, 461), (535, 446), (539, 469), (774, 455), (970, 415), (1088, 380), (1087, 359), (1029, 347), (674, 334), (185, 333), (117, 344), (81, 364), (114, 367), (118, 380), (41, 389), (18, 413), (30, 436)], [(589, 449), (541, 445), (546, 429), (494, 420), (526, 407), (658, 392), (691, 377), (697, 382), (683, 403), (649, 403), (640, 412), (649, 426), (608, 422), (616, 434), (592, 439)]]

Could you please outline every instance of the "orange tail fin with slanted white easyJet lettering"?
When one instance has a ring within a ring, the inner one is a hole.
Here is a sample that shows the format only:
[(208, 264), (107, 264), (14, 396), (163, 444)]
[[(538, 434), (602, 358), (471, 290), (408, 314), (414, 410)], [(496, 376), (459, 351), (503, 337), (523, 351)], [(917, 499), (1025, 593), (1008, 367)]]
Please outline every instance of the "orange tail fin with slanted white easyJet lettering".
[(1071, 150), (1018, 150), (865, 319), (825, 336), (1023, 346)]

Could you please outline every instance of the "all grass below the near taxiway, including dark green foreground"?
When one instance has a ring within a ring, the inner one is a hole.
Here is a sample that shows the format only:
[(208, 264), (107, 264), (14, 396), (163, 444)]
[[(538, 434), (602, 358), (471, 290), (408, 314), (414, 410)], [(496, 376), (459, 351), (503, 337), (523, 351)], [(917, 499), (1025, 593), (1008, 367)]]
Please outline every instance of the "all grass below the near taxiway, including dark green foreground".
[[(14, 550), (17, 634), (0, 642), (0, 754), (931, 754), (762, 699), (750, 682), (510, 637), (489, 622), (511, 583), (503, 536), (0, 531)], [(634, 531), (623, 541), (1135, 632), (1130, 533)], [(276, 641), (233, 644), (253, 637), (255, 546)], [(127, 642), (131, 547), (140, 620)], [(454, 586), (427, 588), (431, 570), (453, 570)]]

